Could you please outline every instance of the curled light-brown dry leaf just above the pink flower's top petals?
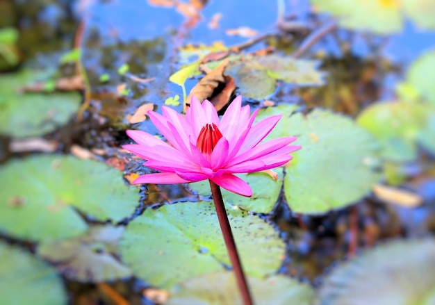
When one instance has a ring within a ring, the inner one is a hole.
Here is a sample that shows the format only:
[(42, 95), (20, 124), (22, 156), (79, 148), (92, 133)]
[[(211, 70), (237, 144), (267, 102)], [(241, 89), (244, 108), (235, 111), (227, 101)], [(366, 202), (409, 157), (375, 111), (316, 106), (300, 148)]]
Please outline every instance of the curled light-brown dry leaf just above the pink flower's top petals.
[(211, 98), (213, 91), (218, 85), (225, 83), (224, 79), (224, 69), (228, 65), (228, 59), (222, 60), (222, 63), (218, 65), (212, 72), (204, 76), (195, 87), (190, 90), (186, 102), (189, 103), (193, 95), (199, 99), (199, 101), (204, 101), (204, 99)]

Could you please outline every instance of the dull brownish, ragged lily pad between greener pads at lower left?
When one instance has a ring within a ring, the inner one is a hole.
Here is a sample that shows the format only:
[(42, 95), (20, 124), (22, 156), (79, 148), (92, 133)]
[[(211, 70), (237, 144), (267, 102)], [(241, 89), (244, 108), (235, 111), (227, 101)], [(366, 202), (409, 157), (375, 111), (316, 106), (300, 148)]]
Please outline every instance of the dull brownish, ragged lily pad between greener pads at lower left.
[(86, 236), (42, 242), (38, 255), (58, 264), (58, 270), (74, 281), (124, 279), (131, 276), (131, 271), (115, 258), (123, 232), (123, 226), (93, 226)]

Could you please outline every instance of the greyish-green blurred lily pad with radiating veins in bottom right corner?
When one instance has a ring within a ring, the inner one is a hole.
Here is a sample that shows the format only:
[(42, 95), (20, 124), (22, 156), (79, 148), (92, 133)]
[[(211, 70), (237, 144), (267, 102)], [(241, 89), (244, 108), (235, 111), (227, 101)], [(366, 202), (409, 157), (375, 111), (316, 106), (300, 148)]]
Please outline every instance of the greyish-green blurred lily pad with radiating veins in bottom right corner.
[(319, 304), (434, 304), (435, 242), (397, 240), (336, 267), (319, 291)]

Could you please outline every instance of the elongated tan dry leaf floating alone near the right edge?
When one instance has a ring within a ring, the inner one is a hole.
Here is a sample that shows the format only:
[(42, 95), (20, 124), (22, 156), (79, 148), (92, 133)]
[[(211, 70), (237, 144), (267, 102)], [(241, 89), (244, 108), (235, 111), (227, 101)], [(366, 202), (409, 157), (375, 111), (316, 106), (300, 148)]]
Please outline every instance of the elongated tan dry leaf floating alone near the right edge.
[(423, 201), (422, 197), (413, 192), (409, 192), (408, 190), (400, 190), (391, 186), (382, 186), (381, 184), (373, 186), (372, 191), (379, 199), (383, 201), (390, 202), (391, 204), (397, 204), (399, 206), (406, 206), (407, 208), (420, 206)]

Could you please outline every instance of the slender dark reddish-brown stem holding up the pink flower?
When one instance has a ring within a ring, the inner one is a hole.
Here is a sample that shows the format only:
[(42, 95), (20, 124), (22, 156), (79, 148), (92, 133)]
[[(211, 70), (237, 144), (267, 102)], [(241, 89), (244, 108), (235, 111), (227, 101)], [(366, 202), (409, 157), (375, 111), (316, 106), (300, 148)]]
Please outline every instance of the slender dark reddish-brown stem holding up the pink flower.
[(233, 265), (234, 274), (236, 275), (238, 289), (242, 295), (243, 304), (252, 305), (252, 297), (249, 292), (249, 286), (247, 284), (245, 274), (243, 273), (242, 264), (240, 263), (240, 258), (238, 256), (236, 242), (234, 242), (233, 233), (231, 232), (231, 226), (229, 225), (229, 220), (227, 216), (227, 211), (225, 211), (224, 199), (222, 199), (222, 193), (220, 192), (220, 187), (216, 183), (210, 181), (211, 195), (213, 195), (213, 201), (215, 202), (217, 219), (219, 220), (220, 229), (222, 230), (222, 235), (224, 236), (225, 245), (227, 246), (227, 251), (231, 264)]

